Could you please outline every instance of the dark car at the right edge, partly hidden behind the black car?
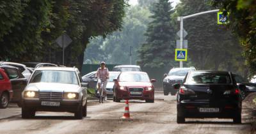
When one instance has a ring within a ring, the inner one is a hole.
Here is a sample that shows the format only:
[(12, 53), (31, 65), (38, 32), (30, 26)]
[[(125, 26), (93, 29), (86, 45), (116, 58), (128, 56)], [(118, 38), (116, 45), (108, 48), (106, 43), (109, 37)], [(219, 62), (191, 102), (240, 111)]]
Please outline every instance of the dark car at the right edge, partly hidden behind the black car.
[(241, 90), (241, 96), (242, 98), (246, 98), (246, 96), (250, 93), (256, 92), (256, 84), (249, 82), (248, 80), (246, 80), (246, 78), (241, 77), (241, 75), (234, 75), (237, 85), (244, 85), (241, 86), (240, 90)]

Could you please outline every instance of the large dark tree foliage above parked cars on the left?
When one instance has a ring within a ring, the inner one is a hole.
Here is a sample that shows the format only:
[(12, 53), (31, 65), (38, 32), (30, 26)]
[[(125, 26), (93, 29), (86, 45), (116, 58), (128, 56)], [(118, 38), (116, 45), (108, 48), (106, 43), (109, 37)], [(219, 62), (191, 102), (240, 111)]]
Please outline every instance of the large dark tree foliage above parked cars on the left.
[[(0, 10), (3, 17), (0, 20), (0, 43), (4, 50), (0, 57), (19, 62), (61, 62), (61, 48), (54, 41), (67, 33), (73, 40), (65, 50), (67, 65), (83, 63), (83, 52), (91, 37), (106, 36), (120, 29), (127, 6), (126, 0), (15, 0), (0, 3), (3, 6)], [(10, 15), (13, 19), (9, 19)]]

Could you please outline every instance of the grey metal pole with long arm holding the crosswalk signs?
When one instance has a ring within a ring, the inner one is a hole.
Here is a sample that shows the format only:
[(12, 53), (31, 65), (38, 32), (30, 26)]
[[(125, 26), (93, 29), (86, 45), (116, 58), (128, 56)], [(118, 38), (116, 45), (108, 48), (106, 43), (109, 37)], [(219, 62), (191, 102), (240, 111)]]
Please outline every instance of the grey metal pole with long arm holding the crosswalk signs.
[[(196, 17), (198, 15), (204, 15), (206, 13), (214, 13), (214, 12), (218, 12), (218, 11), (220, 11), (220, 10), (203, 11), (203, 12), (195, 13), (193, 15), (188, 15), (188, 16), (185, 16), (185, 17), (178, 17), (178, 21), (180, 21), (180, 48), (183, 48), (183, 20), (184, 19), (188, 19), (188, 18), (191, 18), (191, 17)], [(180, 68), (183, 68), (182, 61), (180, 61)]]

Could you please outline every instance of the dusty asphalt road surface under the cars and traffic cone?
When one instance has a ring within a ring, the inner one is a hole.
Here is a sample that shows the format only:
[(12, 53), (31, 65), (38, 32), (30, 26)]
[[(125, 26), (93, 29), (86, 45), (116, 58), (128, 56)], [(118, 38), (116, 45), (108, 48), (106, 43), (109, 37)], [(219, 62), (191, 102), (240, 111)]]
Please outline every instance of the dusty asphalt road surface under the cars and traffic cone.
[[(73, 114), (36, 112), (35, 119), (22, 119), (20, 108), (0, 110), (0, 114), (14, 110), (13, 116), (0, 119), (0, 133), (250, 133), (251, 126), (243, 113), (243, 124), (232, 119), (186, 119), (176, 123), (174, 96), (156, 94), (155, 103), (130, 101), (132, 119), (120, 119), (124, 114), (124, 101), (99, 104), (90, 102), (88, 117), (76, 120)], [(10, 112), (11, 113), (11, 112)]]

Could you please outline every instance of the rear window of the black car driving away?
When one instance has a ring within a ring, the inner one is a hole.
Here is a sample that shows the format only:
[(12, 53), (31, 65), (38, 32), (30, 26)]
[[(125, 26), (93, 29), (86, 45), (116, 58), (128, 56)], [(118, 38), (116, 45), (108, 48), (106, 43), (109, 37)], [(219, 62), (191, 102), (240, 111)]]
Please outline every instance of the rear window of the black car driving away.
[(186, 81), (188, 84), (231, 84), (228, 73), (208, 73), (194, 72), (191, 73)]

